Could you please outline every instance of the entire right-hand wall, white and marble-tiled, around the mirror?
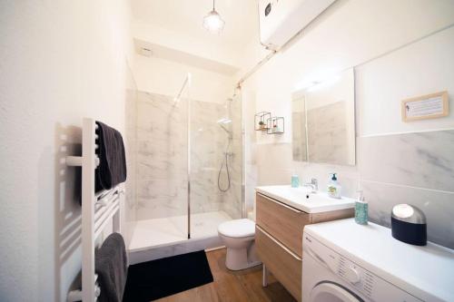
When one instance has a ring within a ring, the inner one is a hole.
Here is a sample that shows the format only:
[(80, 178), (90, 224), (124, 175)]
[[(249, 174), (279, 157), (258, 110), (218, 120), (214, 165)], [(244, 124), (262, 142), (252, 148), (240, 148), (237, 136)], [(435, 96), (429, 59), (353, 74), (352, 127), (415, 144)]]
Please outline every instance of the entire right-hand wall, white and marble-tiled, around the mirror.
[[(291, 173), (302, 181), (319, 179), (326, 190), (337, 171), (344, 195), (361, 187), (370, 201), (370, 217), (389, 226), (390, 209), (401, 202), (426, 212), (429, 239), (454, 247), (453, 163), (454, 114), (405, 123), (400, 101), (448, 90), (453, 107), (454, 2), (446, 0), (337, 1), (289, 47), (243, 83), (255, 95), (255, 112), (284, 116), (286, 133), (266, 135), (247, 129), (246, 183), (249, 204), (253, 186), (289, 184)], [(245, 54), (263, 54), (257, 43)], [(253, 57), (253, 55), (252, 55)], [(262, 56), (246, 60), (258, 62)], [(291, 158), (291, 93), (357, 66), (356, 166), (301, 163)], [(244, 71), (243, 71), (244, 73)], [(241, 74), (238, 75), (238, 77)], [(251, 112), (245, 123), (252, 121)], [(249, 120), (249, 121), (248, 121)], [(401, 134), (402, 132), (408, 134)], [(419, 133), (424, 132), (424, 133)], [(445, 154), (446, 153), (446, 154)]]

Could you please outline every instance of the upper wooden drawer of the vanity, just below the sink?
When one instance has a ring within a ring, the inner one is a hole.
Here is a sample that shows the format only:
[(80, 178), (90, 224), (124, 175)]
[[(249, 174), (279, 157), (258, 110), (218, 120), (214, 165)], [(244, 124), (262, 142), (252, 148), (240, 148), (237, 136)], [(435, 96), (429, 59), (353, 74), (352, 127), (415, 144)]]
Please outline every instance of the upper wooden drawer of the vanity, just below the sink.
[(311, 223), (310, 214), (257, 193), (256, 223), (302, 257), (302, 229)]

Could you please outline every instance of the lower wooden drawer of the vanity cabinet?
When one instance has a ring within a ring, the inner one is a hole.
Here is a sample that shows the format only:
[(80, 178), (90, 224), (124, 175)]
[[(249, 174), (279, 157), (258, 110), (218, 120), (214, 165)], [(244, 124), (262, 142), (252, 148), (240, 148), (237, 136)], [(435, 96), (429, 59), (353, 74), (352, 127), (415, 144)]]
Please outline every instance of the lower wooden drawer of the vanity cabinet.
[(266, 268), (270, 269), (272, 275), (293, 297), (301, 301), (301, 258), (257, 225), (255, 247)]

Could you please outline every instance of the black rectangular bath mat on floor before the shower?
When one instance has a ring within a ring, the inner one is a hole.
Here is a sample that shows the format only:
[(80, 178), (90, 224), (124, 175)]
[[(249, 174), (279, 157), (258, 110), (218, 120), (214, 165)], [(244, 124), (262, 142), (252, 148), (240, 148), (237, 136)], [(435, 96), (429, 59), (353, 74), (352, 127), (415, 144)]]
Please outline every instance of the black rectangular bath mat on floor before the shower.
[(128, 268), (123, 302), (148, 302), (210, 282), (212, 270), (203, 250), (134, 264)]

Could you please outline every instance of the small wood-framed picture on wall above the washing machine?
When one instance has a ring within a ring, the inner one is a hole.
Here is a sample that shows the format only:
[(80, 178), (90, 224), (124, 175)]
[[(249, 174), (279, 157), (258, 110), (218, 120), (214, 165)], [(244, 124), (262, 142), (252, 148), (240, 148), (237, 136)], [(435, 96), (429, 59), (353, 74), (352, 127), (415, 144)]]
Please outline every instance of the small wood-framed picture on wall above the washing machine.
[(435, 119), (449, 114), (448, 92), (431, 93), (403, 100), (402, 121)]

